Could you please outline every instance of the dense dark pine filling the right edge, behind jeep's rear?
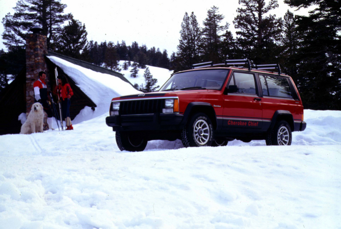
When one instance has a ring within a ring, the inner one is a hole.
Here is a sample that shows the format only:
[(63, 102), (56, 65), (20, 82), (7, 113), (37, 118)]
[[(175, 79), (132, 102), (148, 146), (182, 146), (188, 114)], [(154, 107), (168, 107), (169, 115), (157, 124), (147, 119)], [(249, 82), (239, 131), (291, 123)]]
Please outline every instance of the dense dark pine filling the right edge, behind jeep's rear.
[(341, 2), (285, 0), (291, 7), (315, 6), (297, 17), (301, 36), (295, 58), (305, 108), (341, 109)]

